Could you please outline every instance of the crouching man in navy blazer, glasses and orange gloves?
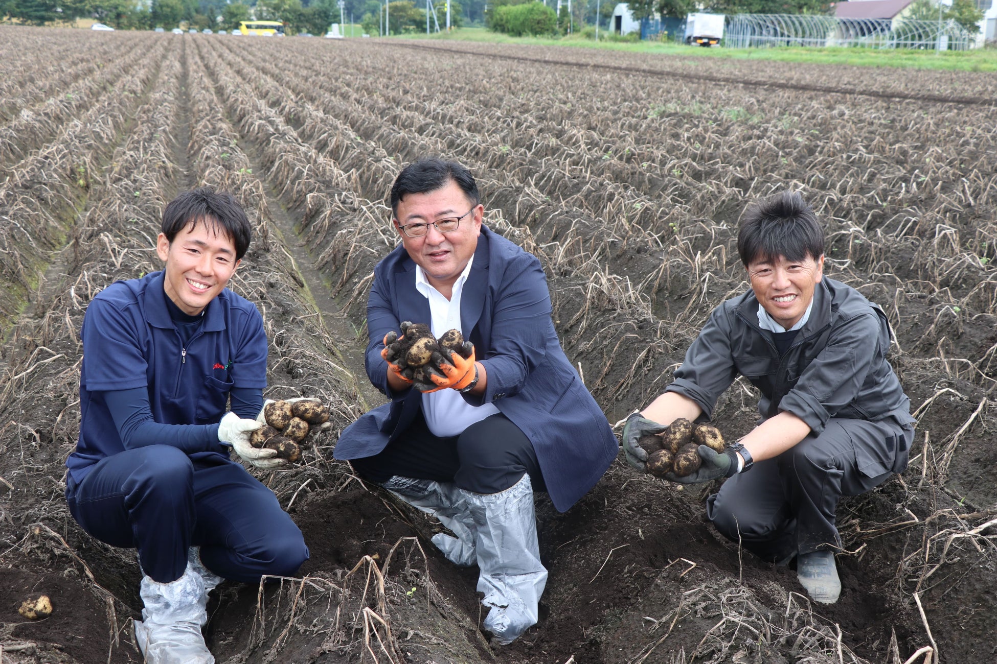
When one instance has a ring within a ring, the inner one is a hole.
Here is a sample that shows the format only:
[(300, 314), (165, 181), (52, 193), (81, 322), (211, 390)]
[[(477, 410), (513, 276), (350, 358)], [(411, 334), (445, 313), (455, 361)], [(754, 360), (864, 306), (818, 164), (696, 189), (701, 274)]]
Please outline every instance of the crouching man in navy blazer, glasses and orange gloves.
[[(536, 623), (547, 577), (533, 491), (564, 512), (618, 445), (560, 347), (539, 261), (482, 225), (471, 172), (417, 161), (399, 173), (391, 204), (402, 246), (374, 271), (366, 356), (391, 402), (348, 427), (335, 456), (457, 536), (433, 542), (457, 564), (479, 564), (485, 628), (511, 643)], [(432, 384), (413, 382), (397, 363), (403, 322), (437, 337), (459, 329), (474, 347), (431, 361)]]

